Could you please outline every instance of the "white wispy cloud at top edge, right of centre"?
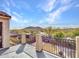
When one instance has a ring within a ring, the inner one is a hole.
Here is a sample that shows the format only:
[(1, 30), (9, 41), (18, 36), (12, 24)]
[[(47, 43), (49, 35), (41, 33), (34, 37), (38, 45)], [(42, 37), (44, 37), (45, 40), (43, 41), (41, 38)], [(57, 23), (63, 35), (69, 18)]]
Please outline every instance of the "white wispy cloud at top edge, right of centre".
[(46, 0), (44, 3), (38, 5), (43, 11), (50, 12), (55, 7), (56, 0)]

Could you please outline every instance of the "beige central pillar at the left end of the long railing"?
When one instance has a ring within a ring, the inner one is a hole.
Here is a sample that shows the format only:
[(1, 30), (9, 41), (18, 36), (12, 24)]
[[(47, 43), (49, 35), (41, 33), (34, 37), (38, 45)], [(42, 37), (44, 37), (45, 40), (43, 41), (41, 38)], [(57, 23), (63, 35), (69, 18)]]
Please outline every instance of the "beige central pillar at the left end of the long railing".
[(36, 51), (41, 52), (43, 49), (43, 42), (41, 34), (36, 34)]

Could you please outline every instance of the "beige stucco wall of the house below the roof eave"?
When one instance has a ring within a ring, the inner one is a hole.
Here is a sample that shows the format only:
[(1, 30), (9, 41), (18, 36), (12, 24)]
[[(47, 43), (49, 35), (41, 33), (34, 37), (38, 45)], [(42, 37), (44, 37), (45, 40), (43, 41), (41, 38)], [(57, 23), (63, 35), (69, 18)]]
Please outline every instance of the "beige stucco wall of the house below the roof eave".
[(2, 22), (2, 45), (3, 45), (3, 48), (10, 46), (10, 44), (9, 44), (9, 20), (7, 20), (7, 19), (0, 19), (0, 22)]

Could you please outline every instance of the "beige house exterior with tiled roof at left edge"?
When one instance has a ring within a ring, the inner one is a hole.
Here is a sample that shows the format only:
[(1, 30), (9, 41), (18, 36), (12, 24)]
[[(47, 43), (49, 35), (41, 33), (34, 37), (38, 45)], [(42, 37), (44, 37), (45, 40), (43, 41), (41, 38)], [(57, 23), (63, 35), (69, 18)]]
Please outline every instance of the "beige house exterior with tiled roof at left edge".
[(0, 48), (9, 47), (9, 16), (7, 13), (0, 11)]

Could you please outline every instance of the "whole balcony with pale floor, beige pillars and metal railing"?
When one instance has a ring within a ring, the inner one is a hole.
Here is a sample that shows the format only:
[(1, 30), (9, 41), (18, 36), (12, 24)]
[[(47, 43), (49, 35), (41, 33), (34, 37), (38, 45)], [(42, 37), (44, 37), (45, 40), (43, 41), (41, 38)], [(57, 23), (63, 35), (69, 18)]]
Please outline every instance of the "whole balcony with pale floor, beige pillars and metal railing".
[(75, 58), (78, 51), (78, 43), (76, 43), (78, 41), (76, 40), (49, 38), (40, 34), (37, 34), (36, 37), (28, 37), (29, 39), (25, 34), (20, 36), (20, 38), (15, 36), (15, 40), (21, 40), (21, 42), (12, 47), (1, 49), (0, 57)]

